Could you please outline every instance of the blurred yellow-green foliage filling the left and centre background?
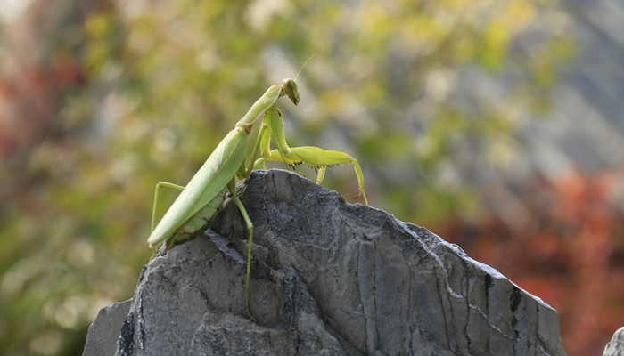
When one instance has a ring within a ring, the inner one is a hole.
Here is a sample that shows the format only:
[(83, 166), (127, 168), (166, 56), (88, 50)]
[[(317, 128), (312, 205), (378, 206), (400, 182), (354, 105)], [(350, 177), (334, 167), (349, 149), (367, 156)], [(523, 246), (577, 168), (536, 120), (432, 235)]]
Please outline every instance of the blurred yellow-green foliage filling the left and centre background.
[[(372, 205), (404, 220), (478, 214), (466, 177), (513, 158), (510, 134), (547, 107), (571, 53), (562, 28), (539, 25), (551, 6), (35, 1), (0, 52), (0, 349), (81, 352), (97, 309), (130, 297), (149, 259), (155, 183), (184, 184), (291, 77), (277, 55), (294, 71), (317, 53), (300, 107), (281, 105), (291, 145), (349, 152)], [(357, 194), (350, 168), (326, 180)]]

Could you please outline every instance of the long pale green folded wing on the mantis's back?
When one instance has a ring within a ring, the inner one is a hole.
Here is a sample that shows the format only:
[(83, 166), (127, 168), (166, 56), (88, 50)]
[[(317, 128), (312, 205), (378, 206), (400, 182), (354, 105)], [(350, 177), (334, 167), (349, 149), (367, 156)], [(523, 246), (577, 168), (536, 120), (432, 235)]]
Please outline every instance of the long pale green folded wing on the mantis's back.
[[(147, 239), (150, 246), (168, 239), (210, 202), (216, 200), (220, 205), (226, 194), (227, 183), (234, 179), (236, 170), (244, 160), (246, 146), (247, 135), (242, 127), (236, 127), (226, 135), (152, 231)], [(220, 200), (216, 199), (219, 196)], [(205, 216), (207, 219), (211, 217)]]

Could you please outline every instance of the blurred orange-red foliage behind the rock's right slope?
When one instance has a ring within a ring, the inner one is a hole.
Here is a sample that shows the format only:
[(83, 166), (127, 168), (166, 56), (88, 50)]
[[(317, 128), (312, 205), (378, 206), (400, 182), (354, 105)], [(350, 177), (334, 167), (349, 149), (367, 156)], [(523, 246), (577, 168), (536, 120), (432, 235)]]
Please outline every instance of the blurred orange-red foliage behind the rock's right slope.
[(579, 171), (537, 180), (520, 198), (530, 223), (509, 226), (492, 214), (432, 230), (497, 268), (554, 307), (571, 356), (602, 354), (624, 326), (624, 219), (614, 201), (616, 174)]

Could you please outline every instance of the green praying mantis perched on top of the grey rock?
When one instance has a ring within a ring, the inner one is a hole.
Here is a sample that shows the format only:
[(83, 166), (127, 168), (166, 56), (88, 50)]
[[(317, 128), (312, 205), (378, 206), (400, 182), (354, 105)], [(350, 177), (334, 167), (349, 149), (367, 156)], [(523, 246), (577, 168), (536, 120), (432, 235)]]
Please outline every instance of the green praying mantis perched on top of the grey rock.
[[(305, 65), (305, 64), (304, 64)], [(295, 78), (298, 76), (295, 76)], [(152, 208), (152, 233), (147, 239), (152, 249), (164, 243), (167, 249), (195, 238), (201, 231), (208, 228), (218, 209), (223, 204), (229, 191), (234, 204), (241, 211), (247, 229), (249, 241), (247, 250), (247, 277), (245, 280), (245, 304), (251, 320), (249, 303), (251, 246), (253, 241), (253, 223), (249, 214), (236, 195), (237, 179), (249, 177), (251, 171), (265, 162), (283, 162), (287, 166), (305, 163), (317, 170), (316, 183), (321, 183), (327, 166), (341, 164), (353, 165), (357, 175), (361, 195), (366, 199), (364, 176), (357, 160), (348, 154), (334, 150), (323, 150), (318, 147), (289, 147), (283, 131), (282, 113), (275, 102), (282, 96), (288, 96), (294, 105), (300, 101), (296, 79), (283, 79), (282, 85), (272, 85), (267, 89), (249, 111), (234, 125), (226, 137), (218, 144), (210, 157), (197, 171), (185, 187), (170, 182), (159, 182), (154, 191)], [(263, 117), (259, 130), (252, 130)], [(248, 139), (254, 131), (256, 137)], [(255, 142), (254, 142), (255, 138)], [(271, 141), (275, 149), (271, 150)], [(156, 206), (161, 188), (181, 190), (173, 204), (168, 208), (160, 223), (154, 228)]]

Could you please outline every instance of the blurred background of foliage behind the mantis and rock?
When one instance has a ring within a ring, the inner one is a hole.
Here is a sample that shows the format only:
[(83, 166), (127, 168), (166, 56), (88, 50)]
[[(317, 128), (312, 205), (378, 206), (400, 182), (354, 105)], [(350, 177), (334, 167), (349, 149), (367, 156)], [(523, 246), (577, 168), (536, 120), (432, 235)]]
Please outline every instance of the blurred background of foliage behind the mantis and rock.
[[(609, 0), (0, 0), (0, 354), (81, 354), (151, 256), (156, 182), (313, 53), (291, 146), (349, 152), (372, 206), (602, 354), (624, 326), (623, 23)], [(349, 166), (324, 185), (357, 195)]]

